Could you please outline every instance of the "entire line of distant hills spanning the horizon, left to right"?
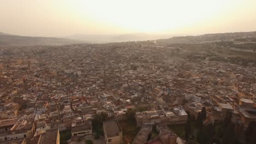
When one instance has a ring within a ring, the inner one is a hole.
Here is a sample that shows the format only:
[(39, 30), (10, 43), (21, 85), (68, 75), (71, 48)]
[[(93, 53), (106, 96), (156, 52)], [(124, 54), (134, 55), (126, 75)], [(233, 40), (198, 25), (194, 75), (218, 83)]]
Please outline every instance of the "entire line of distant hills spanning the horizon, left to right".
[[(163, 39), (166, 38), (167, 39)], [(169, 37), (169, 38), (168, 38)], [(256, 38), (256, 32), (216, 33), (197, 36), (172, 37), (171, 35), (133, 34), (75, 34), (61, 38), (27, 37), (0, 32), (0, 46), (13, 45), (64, 45), (82, 43), (112, 43), (123, 41), (156, 40), (161, 44), (205, 43), (219, 40), (231, 40), (245, 37)]]

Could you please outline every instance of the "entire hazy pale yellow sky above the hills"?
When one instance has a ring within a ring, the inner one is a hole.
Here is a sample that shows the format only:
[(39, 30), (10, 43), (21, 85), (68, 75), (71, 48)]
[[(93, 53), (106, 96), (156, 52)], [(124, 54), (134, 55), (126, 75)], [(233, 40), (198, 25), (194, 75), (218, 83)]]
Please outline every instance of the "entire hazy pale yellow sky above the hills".
[(0, 32), (204, 34), (256, 31), (255, 0), (0, 0)]

